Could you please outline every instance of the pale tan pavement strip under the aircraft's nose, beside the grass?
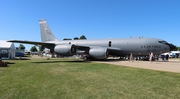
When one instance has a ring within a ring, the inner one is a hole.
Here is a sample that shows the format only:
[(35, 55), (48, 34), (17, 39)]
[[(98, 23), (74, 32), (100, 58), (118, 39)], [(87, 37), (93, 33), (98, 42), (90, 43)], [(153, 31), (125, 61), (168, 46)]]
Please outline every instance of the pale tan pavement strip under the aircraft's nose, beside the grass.
[(152, 63), (149, 61), (99, 61), (98, 63), (180, 73), (180, 60), (154, 61)]

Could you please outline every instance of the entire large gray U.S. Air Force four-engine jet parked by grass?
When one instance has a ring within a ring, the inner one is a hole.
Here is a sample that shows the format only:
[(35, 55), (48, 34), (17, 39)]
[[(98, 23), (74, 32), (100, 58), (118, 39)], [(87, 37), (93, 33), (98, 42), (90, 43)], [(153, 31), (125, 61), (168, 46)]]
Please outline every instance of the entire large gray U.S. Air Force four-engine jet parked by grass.
[(62, 56), (82, 55), (83, 59), (106, 59), (108, 56), (144, 56), (153, 52), (160, 55), (171, 50), (171, 45), (157, 38), (120, 38), (97, 40), (59, 41), (50, 30), (46, 20), (39, 20), (42, 42), (10, 40), (9, 42), (41, 45), (52, 53)]

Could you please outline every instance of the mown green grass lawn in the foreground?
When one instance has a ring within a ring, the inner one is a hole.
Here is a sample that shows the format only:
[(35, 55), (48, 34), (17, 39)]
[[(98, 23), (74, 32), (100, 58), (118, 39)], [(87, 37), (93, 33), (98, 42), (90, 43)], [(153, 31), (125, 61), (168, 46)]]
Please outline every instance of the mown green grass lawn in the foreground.
[(0, 99), (179, 99), (180, 74), (75, 59), (6, 60)]

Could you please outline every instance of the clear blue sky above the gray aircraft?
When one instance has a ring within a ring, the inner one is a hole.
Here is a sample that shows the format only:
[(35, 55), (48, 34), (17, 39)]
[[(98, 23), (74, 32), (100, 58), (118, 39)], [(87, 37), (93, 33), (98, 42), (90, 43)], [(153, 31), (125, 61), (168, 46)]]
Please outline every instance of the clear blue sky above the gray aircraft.
[(41, 41), (40, 19), (59, 40), (152, 37), (180, 46), (180, 0), (0, 0), (0, 40)]

